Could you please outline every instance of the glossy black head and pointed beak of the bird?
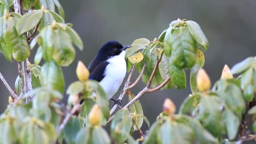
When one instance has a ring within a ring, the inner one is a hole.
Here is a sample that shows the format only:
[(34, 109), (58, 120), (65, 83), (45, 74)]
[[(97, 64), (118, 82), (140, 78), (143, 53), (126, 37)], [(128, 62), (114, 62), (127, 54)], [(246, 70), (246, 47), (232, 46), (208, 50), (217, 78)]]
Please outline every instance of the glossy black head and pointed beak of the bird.
[(119, 42), (113, 40), (105, 43), (99, 50), (99, 53), (101, 53), (101, 55), (104, 53), (104, 55), (106, 55), (107, 57), (117, 56), (122, 51), (125, 51), (127, 48), (130, 48), (130, 47), (131, 45), (123, 46)]

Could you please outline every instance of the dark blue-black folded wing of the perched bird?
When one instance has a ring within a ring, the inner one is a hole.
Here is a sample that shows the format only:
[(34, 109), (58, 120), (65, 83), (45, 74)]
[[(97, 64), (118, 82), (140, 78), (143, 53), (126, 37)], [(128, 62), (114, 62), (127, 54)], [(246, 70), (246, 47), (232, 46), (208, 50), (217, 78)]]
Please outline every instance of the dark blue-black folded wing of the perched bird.
[(108, 64), (109, 62), (103, 61), (97, 65), (90, 73), (89, 79), (100, 82), (104, 78), (104, 71)]

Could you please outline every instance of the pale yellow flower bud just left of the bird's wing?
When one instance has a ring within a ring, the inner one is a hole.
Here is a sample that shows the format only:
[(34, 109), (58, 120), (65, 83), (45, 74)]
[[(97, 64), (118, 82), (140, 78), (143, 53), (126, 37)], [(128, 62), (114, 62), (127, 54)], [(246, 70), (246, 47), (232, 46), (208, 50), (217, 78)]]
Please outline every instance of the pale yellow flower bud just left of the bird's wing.
[(88, 80), (89, 71), (85, 67), (82, 61), (78, 61), (77, 69), (76, 69), (77, 77), (80, 81), (85, 82)]

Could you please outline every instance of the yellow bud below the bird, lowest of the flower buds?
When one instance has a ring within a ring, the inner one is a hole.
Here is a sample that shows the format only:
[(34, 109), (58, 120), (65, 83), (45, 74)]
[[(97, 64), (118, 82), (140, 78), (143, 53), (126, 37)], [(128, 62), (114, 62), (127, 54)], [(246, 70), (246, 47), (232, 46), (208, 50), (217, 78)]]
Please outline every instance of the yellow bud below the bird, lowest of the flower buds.
[(94, 104), (91, 108), (91, 112), (89, 113), (89, 122), (92, 125), (98, 125), (101, 120), (101, 110), (98, 104)]

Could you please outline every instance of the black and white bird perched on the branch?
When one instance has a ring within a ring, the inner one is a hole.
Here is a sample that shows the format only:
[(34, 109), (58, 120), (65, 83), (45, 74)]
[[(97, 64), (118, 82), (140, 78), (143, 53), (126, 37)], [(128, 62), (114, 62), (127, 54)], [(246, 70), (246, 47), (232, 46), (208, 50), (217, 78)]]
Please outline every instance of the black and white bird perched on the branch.
[[(113, 99), (126, 74), (125, 50), (131, 45), (123, 46), (117, 41), (108, 41), (98, 51), (91, 61), (88, 70), (89, 79), (99, 82), (107, 94), (107, 98), (114, 104), (121, 104), (121, 100)], [(113, 104), (113, 105), (114, 105)]]

